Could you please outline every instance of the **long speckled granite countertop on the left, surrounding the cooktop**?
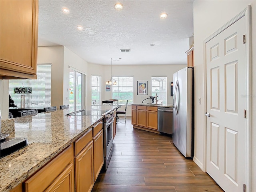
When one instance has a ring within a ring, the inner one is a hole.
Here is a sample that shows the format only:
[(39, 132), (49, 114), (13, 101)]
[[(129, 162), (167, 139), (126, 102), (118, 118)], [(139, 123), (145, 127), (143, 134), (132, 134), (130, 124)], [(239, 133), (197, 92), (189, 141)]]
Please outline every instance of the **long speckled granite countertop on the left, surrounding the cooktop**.
[(67, 113), (68, 110), (57, 110), (14, 118), (15, 128), (10, 137), (28, 138), (28, 146), (0, 159), (0, 192), (7, 192), (26, 180), (103, 119), (102, 115), (66, 116)]

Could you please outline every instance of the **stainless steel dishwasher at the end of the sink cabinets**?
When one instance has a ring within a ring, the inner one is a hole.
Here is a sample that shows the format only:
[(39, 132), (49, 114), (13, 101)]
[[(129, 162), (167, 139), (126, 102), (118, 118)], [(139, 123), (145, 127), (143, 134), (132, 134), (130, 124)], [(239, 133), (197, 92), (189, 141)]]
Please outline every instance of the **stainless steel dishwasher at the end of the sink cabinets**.
[(172, 134), (172, 108), (158, 107), (157, 127), (160, 133)]

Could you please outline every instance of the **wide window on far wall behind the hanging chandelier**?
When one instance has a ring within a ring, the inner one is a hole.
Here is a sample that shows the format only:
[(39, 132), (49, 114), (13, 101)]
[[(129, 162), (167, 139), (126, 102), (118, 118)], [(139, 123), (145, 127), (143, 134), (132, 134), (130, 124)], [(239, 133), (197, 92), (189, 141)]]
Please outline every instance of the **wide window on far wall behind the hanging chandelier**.
[(117, 85), (112, 85), (112, 99), (118, 99), (118, 104), (133, 103), (133, 77), (112, 77)]

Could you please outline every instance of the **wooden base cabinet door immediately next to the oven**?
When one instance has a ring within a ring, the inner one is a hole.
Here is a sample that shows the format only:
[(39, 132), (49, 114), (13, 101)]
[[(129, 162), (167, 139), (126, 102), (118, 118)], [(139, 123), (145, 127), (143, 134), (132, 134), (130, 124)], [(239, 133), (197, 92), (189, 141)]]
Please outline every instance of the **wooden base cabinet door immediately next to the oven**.
[(100, 170), (104, 164), (103, 154), (103, 130), (93, 138), (93, 165), (94, 165), (94, 182), (96, 181)]

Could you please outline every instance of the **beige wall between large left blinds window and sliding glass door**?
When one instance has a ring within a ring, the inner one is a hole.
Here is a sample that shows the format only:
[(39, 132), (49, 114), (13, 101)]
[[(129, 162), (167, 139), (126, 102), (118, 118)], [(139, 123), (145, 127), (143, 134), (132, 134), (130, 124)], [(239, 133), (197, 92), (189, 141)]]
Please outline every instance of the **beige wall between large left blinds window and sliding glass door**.
[(64, 46), (38, 47), (37, 63), (52, 64), (51, 105), (57, 106), (57, 108), (59, 108), (59, 106), (64, 103), (63, 62), (64, 62)]

